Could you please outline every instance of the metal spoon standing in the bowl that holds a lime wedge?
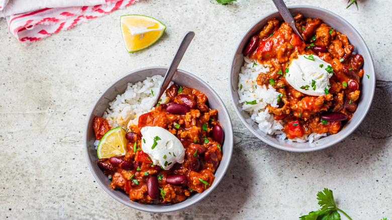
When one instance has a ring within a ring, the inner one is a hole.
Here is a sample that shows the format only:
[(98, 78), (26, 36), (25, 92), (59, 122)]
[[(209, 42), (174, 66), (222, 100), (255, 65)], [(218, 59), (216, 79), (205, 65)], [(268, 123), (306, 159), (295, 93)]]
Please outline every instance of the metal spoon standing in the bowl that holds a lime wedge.
[(178, 47), (177, 52), (175, 53), (169, 68), (167, 69), (166, 75), (161, 83), (161, 87), (159, 88), (159, 93), (156, 96), (154, 104), (151, 106), (151, 108), (155, 107), (155, 105), (158, 103), (159, 99), (165, 92), (167, 86), (170, 84), (170, 81), (173, 78), (174, 73), (177, 71), (178, 64), (180, 63), (182, 57), (184, 56), (184, 53), (188, 48), (190, 42), (192, 41), (193, 37), (194, 37), (194, 32), (189, 31), (188, 33), (185, 34), (184, 39), (182, 39), (181, 44)]

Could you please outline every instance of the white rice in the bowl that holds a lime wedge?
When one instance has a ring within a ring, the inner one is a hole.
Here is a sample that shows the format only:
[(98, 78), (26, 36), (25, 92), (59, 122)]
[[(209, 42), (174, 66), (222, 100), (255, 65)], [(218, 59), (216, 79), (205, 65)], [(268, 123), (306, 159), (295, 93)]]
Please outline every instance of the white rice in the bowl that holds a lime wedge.
[[(155, 75), (147, 77), (144, 81), (136, 83), (128, 83), (128, 87), (123, 94), (118, 94), (112, 100), (106, 109), (103, 118), (108, 120), (109, 126), (112, 128), (122, 127), (125, 130), (129, 125), (137, 125), (139, 116), (148, 113), (155, 97), (159, 92), (159, 87), (163, 77)], [(170, 82), (172, 85), (173, 82)], [(169, 86), (170, 86), (169, 85)], [(160, 104), (167, 103), (169, 98), (166, 93), (163, 93)], [(95, 141), (94, 145), (97, 148), (100, 141)]]

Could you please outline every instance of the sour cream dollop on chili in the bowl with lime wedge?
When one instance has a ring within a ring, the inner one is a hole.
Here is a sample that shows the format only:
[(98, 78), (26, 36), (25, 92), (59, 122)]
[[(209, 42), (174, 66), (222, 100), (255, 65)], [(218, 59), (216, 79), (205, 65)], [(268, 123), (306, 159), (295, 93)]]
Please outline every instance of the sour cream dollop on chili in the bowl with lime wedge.
[(146, 126), (142, 133), (142, 150), (151, 157), (154, 165), (170, 169), (175, 163), (183, 163), (185, 150), (178, 138), (161, 127)]

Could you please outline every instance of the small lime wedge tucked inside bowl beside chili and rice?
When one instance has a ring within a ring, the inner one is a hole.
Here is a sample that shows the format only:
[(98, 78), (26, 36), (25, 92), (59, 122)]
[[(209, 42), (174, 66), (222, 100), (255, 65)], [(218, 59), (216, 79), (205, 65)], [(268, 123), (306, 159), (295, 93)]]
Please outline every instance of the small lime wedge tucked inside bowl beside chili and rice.
[(125, 149), (128, 144), (128, 141), (125, 138), (126, 134), (127, 132), (121, 127), (109, 130), (104, 137), (102, 137), (100, 144), (96, 149), (98, 158), (101, 159), (125, 155)]

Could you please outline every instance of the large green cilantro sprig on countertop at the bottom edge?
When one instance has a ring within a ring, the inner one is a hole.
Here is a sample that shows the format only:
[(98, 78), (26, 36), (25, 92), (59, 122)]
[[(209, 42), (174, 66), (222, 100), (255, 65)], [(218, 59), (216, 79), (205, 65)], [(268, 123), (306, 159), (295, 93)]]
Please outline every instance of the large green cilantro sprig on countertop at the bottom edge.
[(338, 211), (342, 212), (346, 215), (346, 217), (348, 217), (348, 219), (352, 220), (346, 212), (336, 206), (332, 190), (324, 188), (323, 191), (317, 193), (317, 200), (319, 200), (318, 203), (321, 208), (317, 211), (311, 211), (309, 214), (301, 216), (301, 220), (340, 220), (340, 214)]

